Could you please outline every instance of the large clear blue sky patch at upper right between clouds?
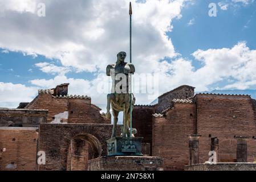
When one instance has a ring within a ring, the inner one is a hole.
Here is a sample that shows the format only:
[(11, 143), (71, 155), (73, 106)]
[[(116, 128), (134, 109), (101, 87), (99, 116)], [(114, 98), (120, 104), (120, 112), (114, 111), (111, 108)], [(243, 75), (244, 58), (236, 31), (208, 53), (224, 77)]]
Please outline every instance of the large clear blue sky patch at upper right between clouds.
[[(256, 2), (250, 5), (240, 3), (238, 7), (229, 6), (227, 10), (217, 6), (216, 17), (208, 15), (209, 2), (218, 5), (221, 1), (194, 1), (194, 5), (182, 9), (181, 19), (173, 20), (174, 28), (168, 36), (176, 51), (193, 59), (191, 53), (197, 49), (233, 47), (239, 41), (246, 41), (248, 47), (255, 49)], [(187, 23), (193, 18), (194, 24), (188, 26)]]

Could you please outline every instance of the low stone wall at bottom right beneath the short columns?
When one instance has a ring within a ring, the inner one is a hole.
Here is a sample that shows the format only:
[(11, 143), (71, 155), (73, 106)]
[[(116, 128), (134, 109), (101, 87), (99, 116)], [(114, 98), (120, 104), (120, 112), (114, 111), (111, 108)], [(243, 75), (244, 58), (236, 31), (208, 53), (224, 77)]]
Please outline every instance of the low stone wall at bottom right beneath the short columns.
[(256, 171), (255, 163), (194, 164), (184, 167), (185, 171)]

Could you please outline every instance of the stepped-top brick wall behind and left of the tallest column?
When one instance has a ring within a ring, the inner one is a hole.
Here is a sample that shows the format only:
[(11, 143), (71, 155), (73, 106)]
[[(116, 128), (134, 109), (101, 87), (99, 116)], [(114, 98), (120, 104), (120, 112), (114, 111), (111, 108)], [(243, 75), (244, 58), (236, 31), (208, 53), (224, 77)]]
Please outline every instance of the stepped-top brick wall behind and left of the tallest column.
[(153, 118), (152, 155), (164, 158), (165, 170), (188, 165), (188, 134), (195, 131), (194, 104), (175, 103), (165, 117)]

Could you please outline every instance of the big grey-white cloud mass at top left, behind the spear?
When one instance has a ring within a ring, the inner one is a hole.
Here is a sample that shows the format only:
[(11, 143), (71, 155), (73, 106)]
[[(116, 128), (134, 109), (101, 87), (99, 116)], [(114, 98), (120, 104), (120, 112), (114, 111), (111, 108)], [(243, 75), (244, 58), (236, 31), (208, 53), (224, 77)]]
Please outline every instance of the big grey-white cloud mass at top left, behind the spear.
[[(177, 55), (165, 32), (172, 30), (172, 19), (181, 16), (185, 1), (189, 0), (132, 1), (135, 64), (154, 65)], [(46, 17), (36, 14), (39, 2), (46, 3)], [(117, 52), (128, 52), (128, 3), (0, 0), (0, 47), (59, 59), (64, 67), (77, 71), (104, 71), (105, 65), (116, 60)]]

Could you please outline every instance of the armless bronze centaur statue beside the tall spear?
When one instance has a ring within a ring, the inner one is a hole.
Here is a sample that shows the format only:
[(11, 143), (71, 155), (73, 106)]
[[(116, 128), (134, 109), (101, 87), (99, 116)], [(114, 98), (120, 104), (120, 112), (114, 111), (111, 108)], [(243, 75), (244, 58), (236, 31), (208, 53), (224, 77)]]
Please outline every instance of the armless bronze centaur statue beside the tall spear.
[[(131, 110), (130, 103), (132, 103), (132, 109), (133, 105), (135, 104), (135, 98), (133, 94), (129, 94), (129, 74), (135, 73), (135, 67), (131, 63), (125, 63), (125, 57), (125, 52), (119, 52), (117, 54), (116, 64), (109, 64), (107, 66), (107, 76), (112, 76), (112, 79), (114, 79), (111, 94), (108, 94), (107, 96), (106, 113), (106, 118), (111, 119), (111, 114), (109, 112), (111, 105), (112, 114), (114, 117), (111, 138), (116, 137), (116, 125), (118, 121), (118, 114), (120, 111), (123, 111), (124, 113), (121, 137), (134, 137), (133, 134), (136, 134), (136, 129), (132, 129), (132, 136), (130, 136), (129, 132)], [(130, 98), (130, 96), (132, 98)]]

